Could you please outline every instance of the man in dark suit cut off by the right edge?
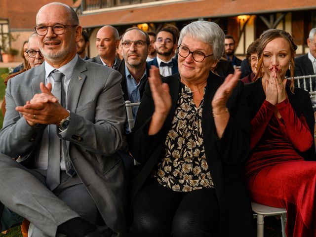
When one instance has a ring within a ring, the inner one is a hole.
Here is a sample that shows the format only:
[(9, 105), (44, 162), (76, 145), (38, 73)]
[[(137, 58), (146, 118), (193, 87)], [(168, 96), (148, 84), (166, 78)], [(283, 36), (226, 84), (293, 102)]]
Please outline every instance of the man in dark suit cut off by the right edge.
[[(294, 76), (308, 76), (316, 74), (316, 28), (310, 31), (309, 38), (307, 39), (307, 45), (310, 51), (307, 54), (296, 57), (294, 59), (295, 69)], [(297, 85), (297, 84), (296, 84)], [(315, 90), (315, 78), (312, 79), (312, 90)], [(304, 88), (303, 79), (300, 79), (300, 86)], [(307, 90), (311, 91), (310, 83), (306, 83)]]

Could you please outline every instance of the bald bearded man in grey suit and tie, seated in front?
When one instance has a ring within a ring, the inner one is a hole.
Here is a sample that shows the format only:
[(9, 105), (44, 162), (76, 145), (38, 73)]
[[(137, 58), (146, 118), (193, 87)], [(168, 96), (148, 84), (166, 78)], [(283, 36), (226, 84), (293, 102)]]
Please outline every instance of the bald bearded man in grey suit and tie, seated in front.
[(121, 76), (79, 58), (73, 8), (49, 3), (36, 22), (45, 62), (7, 84), (0, 201), (31, 222), (30, 237), (124, 235)]

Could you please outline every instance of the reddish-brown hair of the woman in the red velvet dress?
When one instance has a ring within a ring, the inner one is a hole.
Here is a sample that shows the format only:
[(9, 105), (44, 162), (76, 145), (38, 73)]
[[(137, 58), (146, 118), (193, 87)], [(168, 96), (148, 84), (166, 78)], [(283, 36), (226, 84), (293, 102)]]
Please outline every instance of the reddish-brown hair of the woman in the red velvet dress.
[(277, 29), (270, 29), (265, 31), (260, 38), (260, 43), (257, 47), (257, 52), (258, 52), (258, 65), (257, 65), (257, 75), (254, 77), (253, 81), (255, 81), (256, 79), (258, 79), (259, 77), (262, 77), (261, 73), (261, 69), (262, 69), (262, 64), (263, 64), (263, 50), (265, 49), (265, 47), (267, 46), (267, 44), (272, 41), (275, 40), (276, 38), (283, 38), (285, 40), (288, 41), (289, 46), (290, 46), (290, 52), (291, 52), (291, 69), (290, 69), (290, 77), (291, 77), (291, 91), (294, 91), (294, 57), (295, 57), (295, 51), (297, 49), (297, 45), (294, 43), (291, 35), (289, 33), (287, 33), (284, 30), (277, 30)]

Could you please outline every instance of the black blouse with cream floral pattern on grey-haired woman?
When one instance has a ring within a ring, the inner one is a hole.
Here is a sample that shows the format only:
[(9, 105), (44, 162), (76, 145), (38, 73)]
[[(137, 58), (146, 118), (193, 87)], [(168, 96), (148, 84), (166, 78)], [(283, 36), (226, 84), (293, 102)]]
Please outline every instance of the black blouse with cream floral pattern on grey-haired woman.
[(180, 89), (172, 127), (164, 145), (165, 152), (153, 169), (152, 177), (173, 191), (213, 188), (201, 127), (204, 99), (197, 108), (190, 87), (181, 83)]

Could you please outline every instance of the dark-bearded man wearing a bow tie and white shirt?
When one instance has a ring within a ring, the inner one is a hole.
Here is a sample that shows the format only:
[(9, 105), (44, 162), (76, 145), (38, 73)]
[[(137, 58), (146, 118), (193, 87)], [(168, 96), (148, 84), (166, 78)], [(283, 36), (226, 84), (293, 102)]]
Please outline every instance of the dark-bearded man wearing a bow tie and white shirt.
[(173, 59), (173, 52), (176, 49), (176, 36), (168, 28), (162, 28), (158, 34), (155, 43), (157, 57), (147, 64), (159, 68), (162, 77), (168, 77), (178, 72), (178, 62)]

